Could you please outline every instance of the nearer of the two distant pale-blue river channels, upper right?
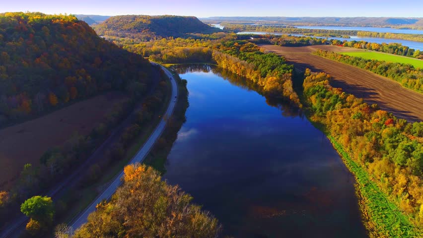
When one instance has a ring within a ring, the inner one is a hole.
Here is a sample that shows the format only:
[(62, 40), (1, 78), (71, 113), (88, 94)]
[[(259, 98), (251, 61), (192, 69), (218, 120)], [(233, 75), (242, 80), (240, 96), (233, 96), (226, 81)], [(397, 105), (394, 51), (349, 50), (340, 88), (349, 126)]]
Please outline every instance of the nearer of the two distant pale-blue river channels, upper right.
[[(242, 31), (238, 32), (237, 34), (255, 34), (255, 35), (265, 35), (265, 34), (273, 34), (273, 35), (291, 35), (291, 36), (304, 36), (302, 34), (287, 34), (287, 33), (271, 33), (271, 32), (259, 32), (259, 31)], [(328, 39), (337, 39), (340, 41), (367, 41), (367, 42), (374, 42), (374, 43), (401, 43), (403, 46), (408, 46), (411, 49), (421, 50), (423, 51), (423, 42), (417, 41), (407, 41), (407, 40), (397, 40), (397, 39), (385, 39), (385, 38), (376, 38), (376, 37), (359, 37), (359, 36), (350, 36), (351, 38), (340, 38), (340, 37), (318, 37), (312, 36), (316, 38), (328, 38)]]

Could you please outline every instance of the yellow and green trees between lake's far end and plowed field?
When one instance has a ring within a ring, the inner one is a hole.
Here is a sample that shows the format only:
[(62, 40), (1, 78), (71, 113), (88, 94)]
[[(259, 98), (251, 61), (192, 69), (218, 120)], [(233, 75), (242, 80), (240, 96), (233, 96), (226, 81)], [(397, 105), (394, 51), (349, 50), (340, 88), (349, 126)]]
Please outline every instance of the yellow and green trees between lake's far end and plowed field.
[(292, 88), (293, 66), (282, 57), (265, 54), (256, 44), (243, 40), (221, 42), (213, 49), (213, 60), (218, 66), (252, 80), (268, 96), (290, 99), (301, 107)]

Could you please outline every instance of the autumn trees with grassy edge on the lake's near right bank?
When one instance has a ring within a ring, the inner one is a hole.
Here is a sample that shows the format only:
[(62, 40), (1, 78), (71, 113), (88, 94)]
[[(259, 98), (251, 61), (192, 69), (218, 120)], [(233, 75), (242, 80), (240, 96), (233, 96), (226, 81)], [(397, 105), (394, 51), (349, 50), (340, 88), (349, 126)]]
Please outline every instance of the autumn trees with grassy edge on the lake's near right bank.
[[(361, 184), (367, 204), (375, 209), (374, 222), (386, 233), (379, 236), (419, 237), (410, 225), (408, 216), (423, 227), (423, 122), (409, 123), (378, 110), (377, 105), (363, 103), (362, 99), (346, 94), (330, 85), (326, 73), (305, 72), (304, 96), (313, 112), (311, 120), (320, 123), (340, 143), (379, 188), (370, 183)], [(359, 171), (356, 171), (359, 172)], [(365, 179), (367, 175), (357, 175)], [(361, 182), (360, 180), (358, 180)], [(379, 197), (383, 191), (406, 217), (391, 216), (398, 213)], [(387, 210), (384, 210), (387, 209)]]

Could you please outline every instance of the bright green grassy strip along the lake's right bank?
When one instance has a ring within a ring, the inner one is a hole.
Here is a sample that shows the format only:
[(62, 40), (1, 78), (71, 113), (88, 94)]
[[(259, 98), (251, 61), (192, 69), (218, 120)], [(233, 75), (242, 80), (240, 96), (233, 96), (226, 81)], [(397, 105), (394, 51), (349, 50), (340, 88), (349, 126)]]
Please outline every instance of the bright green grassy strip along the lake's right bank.
[(408, 216), (402, 214), (399, 208), (387, 199), (377, 184), (369, 179), (368, 173), (351, 159), (342, 145), (332, 135), (327, 134), (327, 137), (355, 176), (355, 187), (363, 200), (360, 203), (363, 217), (369, 219), (365, 222), (365, 226), (370, 237), (422, 237), (422, 233), (411, 224)]

